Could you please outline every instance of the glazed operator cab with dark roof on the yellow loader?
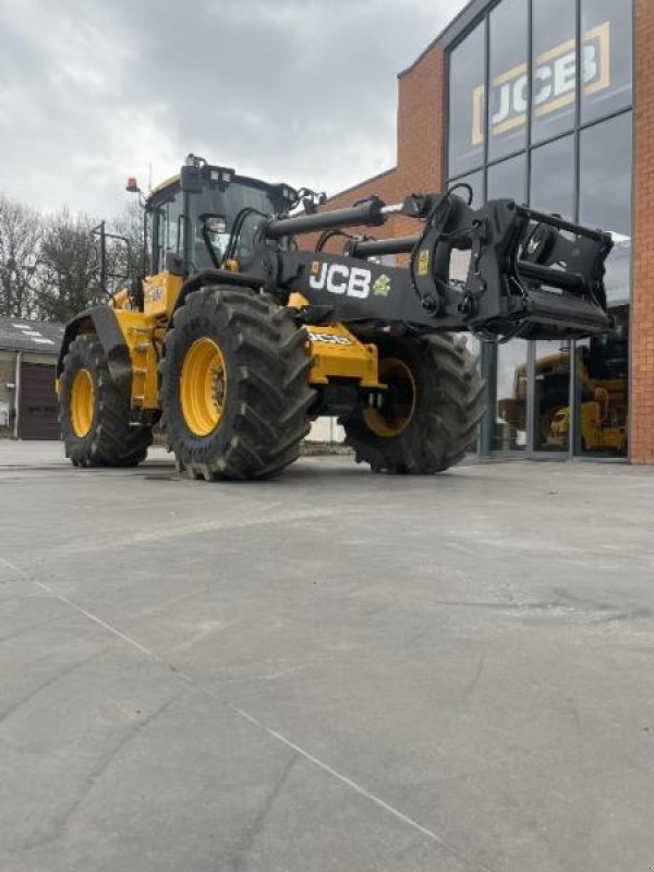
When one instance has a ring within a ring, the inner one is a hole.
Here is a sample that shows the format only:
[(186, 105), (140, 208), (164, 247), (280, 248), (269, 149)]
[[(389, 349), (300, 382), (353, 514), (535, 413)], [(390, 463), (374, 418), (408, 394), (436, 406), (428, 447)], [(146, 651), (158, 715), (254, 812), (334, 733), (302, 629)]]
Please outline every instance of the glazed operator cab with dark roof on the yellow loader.
[[(226, 258), (245, 268), (262, 221), (288, 213), (296, 198), (289, 185), (237, 175), (190, 155), (180, 174), (146, 202), (149, 274), (174, 265), (187, 275), (219, 267)], [(228, 251), (237, 225), (238, 238)]]

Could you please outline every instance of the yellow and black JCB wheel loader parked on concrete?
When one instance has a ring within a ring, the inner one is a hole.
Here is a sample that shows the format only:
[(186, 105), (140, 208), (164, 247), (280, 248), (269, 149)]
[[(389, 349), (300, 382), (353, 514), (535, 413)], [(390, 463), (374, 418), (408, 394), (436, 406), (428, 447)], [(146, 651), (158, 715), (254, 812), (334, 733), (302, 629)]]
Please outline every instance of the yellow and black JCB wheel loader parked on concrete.
[[(313, 419), (331, 415), (375, 472), (456, 464), (484, 413), (457, 334), (501, 342), (611, 324), (609, 234), (511, 199), (479, 209), (471, 199), (456, 185), (329, 209), (307, 189), (190, 155), (144, 199), (143, 275), (65, 327), (66, 456), (136, 465), (161, 420), (180, 471), (264, 479), (298, 458)], [(391, 216), (414, 233), (385, 238)], [(469, 258), (462, 280), (450, 279), (452, 252)]]

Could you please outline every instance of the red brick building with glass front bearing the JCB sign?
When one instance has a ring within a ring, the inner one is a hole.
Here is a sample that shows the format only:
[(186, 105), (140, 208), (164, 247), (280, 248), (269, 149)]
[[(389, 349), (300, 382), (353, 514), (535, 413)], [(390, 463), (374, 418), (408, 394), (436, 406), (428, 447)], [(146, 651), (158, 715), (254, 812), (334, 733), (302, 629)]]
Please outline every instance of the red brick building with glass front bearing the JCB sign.
[(399, 74), (397, 166), (330, 201), (463, 181), (613, 232), (615, 330), (477, 346), (483, 455), (654, 462), (653, 43), (652, 0), (472, 0)]

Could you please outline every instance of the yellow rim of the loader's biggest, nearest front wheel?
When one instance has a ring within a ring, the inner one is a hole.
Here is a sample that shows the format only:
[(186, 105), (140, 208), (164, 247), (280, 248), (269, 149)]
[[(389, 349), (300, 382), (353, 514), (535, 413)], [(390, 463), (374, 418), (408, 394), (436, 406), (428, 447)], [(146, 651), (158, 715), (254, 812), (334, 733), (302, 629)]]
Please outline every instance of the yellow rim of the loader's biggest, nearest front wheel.
[(208, 436), (222, 417), (227, 372), (222, 352), (208, 337), (196, 339), (184, 356), (180, 401), (186, 426), (195, 436)]

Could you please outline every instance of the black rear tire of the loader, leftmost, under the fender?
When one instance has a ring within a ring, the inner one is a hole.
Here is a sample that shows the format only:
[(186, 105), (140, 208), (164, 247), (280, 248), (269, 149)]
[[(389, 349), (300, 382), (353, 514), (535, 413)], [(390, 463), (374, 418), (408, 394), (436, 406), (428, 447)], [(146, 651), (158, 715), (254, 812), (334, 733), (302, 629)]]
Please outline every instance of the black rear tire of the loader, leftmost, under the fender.
[[(71, 412), (73, 382), (81, 371), (93, 385), (85, 435), (75, 432)], [(153, 441), (152, 427), (130, 426), (130, 402), (113, 383), (95, 334), (83, 334), (70, 344), (63, 360), (59, 414), (65, 456), (74, 467), (136, 467)]]

